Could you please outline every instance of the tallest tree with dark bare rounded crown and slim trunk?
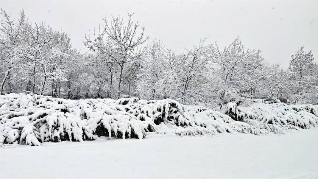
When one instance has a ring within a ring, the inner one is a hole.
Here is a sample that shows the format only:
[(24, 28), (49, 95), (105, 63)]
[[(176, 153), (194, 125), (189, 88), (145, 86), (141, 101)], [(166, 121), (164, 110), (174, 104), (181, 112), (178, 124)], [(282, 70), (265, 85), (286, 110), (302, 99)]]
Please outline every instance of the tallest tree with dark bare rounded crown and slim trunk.
[(118, 98), (121, 93), (121, 81), (123, 77), (123, 69), (125, 64), (132, 63), (140, 59), (143, 50), (138, 50), (149, 38), (144, 38), (145, 27), (141, 27), (138, 33), (139, 24), (132, 20), (133, 14), (128, 13), (128, 21), (125, 23), (123, 17), (112, 17), (111, 22), (104, 20), (103, 31), (96, 37), (94, 31), (94, 39), (91, 40), (90, 35), (86, 36), (85, 45), (93, 51), (102, 51), (109, 55), (105, 63), (117, 63), (120, 68), (118, 83)]

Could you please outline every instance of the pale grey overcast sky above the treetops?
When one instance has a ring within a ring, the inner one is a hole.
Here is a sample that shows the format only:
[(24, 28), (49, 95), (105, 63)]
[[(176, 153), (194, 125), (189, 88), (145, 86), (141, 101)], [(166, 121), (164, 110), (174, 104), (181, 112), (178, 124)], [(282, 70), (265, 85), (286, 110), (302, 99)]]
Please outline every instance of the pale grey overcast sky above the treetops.
[[(318, 1), (0, 1), (17, 17), (62, 28), (75, 48), (102, 17), (135, 12), (146, 34), (167, 48), (182, 52), (209, 37), (207, 43), (230, 44), (237, 36), (246, 48), (261, 49), (267, 62), (287, 68), (291, 55), (304, 45), (318, 59)], [(82, 49), (81, 51), (86, 51)]]

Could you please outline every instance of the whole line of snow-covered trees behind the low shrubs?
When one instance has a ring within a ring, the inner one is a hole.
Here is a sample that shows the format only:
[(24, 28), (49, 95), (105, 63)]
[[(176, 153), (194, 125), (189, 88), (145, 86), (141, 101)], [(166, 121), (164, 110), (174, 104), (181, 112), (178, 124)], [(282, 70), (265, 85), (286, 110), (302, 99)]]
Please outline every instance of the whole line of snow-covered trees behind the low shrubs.
[[(138, 96), (183, 104), (222, 105), (233, 96), (318, 104), (318, 65), (301, 46), (289, 68), (264, 62), (259, 49), (239, 38), (224, 47), (206, 38), (176, 53), (149, 39), (133, 14), (103, 18), (85, 34), (88, 52), (73, 48), (67, 32), (13, 19), (1, 10), (1, 94), (34, 93), (65, 99)], [(83, 34), (84, 35), (84, 34)]]

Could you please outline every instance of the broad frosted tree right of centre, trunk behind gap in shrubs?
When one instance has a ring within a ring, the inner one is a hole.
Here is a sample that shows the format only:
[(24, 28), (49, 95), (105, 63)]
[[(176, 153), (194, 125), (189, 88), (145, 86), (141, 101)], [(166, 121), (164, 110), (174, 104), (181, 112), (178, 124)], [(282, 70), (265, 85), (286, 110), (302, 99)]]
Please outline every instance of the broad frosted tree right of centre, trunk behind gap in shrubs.
[[(255, 87), (255, 71), (259, 68), (263, 58), (260, 50), (247, 49), (236, 38), (232, 44), (220, 50), (218, 45), (213, 45), (213, 62), (217, 66), (216, 80), (213, 81), (211, 90), (218, 93), (219, 103), (222, 105), (227, 91), (241, 91)], [(249, 78), (254, 77), (254, 78)]]

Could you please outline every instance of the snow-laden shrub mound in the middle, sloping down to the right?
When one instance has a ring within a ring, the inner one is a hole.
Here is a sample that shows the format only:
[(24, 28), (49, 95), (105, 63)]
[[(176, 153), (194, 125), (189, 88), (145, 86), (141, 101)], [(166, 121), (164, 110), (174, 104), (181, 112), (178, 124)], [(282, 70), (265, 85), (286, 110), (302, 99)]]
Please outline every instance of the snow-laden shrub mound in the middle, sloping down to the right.
[[(148, 121), (149, 131), (178, 135), (213, 135), (224, 132), (244, 132), (259, 134), (252, 126), (232, 120), (229, 116), (211, 109), (195, 106), (184, 106), (175, 100), (118, 100), (116, 103), (129, 101), (124, 107), (127, 112), (135, 114), (137, 119)], [(129, 107), (127, 107), (129, 106)], [(153, 127), (153, 128), (152, 128)]]

